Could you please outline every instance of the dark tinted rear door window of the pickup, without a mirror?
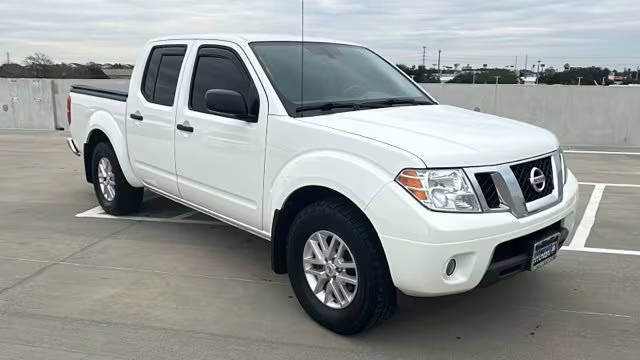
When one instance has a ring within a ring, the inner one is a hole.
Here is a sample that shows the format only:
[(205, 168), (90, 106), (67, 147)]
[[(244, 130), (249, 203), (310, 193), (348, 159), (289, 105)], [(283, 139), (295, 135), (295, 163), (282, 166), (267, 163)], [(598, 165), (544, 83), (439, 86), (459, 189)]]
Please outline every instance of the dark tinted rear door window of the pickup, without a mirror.
[(163, 46), (151, 50), (142, 94), (147, 101), (172, 106), (186, 46)]

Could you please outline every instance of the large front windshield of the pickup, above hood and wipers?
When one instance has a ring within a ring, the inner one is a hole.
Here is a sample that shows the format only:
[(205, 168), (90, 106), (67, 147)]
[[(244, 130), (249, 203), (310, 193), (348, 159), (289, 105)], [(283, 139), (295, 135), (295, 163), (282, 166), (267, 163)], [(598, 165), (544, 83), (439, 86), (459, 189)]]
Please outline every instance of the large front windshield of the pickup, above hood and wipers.
[(289, 115), (433, 104), (369, 49), (343, 44), (254, 42), (251, 47)]

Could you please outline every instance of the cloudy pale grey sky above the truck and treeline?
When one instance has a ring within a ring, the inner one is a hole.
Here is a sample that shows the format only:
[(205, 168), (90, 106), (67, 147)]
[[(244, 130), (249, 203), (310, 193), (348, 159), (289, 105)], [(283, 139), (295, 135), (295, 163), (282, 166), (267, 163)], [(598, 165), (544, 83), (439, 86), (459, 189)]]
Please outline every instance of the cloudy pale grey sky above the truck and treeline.
[[(301, 0), (0, 0), (0, 63), (134, 63), (148, 39), (302, 35)], [(640, 65), (640, 0), (305, 0), (304, 34), (365, 44), (391, 61), (503, 67)]]

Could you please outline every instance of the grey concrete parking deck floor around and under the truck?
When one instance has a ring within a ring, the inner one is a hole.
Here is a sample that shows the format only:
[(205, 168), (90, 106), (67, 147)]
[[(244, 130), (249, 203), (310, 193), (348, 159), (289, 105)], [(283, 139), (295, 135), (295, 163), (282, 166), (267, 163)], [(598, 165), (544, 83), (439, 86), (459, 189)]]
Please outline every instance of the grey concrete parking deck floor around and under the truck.
[[(400, 295), (342, 337), (271, 272), (267, 241), (153, 196), (133, 220), (76, 217), (97, 202), (63, 136), (0, 131), (0, 359), (640, 358), (638, 255), (561, 251), (489, 288)], [(640, 184), (639, 155), (567, 156), (582, 182)], [(640, 251), (639, 219), (640, 187), (606, 186), (585, 246)]]

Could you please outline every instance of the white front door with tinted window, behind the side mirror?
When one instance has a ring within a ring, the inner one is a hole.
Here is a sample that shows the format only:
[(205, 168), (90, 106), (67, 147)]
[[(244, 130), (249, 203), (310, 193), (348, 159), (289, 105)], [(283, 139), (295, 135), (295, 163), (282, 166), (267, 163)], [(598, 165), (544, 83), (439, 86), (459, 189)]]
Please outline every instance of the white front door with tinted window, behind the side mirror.
[[(261, 229), (268, 112), (264, 90), (235, 44), (199, 43), (187, 61), (195, 71), (192, 83), (182, 84), (185, 96), (176, 122), (192, 127), (193, 132), (176, 129), (180, 194), (219, 215)], [(207, 110), (204, 94), (213, 88), (243, 93), (257, 122)]]

